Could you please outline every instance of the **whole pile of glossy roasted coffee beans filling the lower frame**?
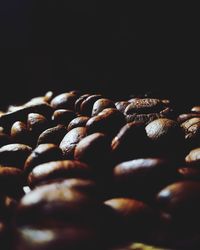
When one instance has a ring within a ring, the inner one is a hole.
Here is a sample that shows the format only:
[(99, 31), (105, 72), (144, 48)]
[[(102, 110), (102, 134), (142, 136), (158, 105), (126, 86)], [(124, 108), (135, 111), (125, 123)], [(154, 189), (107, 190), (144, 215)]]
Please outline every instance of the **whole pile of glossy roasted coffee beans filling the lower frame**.
[(200, 249), (199, 225), (200, 106), (73, 90), (0, 112), (1, 249)]

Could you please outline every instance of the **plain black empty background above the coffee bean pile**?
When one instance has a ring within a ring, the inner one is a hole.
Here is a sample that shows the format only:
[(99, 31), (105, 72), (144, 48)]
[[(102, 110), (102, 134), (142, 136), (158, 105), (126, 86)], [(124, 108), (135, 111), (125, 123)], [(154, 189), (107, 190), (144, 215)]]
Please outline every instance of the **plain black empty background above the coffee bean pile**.
[(197, 6), (134, 2), (0, 3), (0, 106), (74, 88), (198, 102)]

